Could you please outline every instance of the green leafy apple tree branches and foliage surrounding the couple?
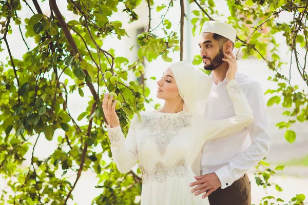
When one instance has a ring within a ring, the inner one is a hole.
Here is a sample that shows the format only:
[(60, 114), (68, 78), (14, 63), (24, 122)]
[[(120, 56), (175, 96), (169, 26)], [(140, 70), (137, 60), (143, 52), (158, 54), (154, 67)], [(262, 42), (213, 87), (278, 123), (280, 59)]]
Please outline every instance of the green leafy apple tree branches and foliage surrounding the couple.
[[(102, 157), (106, 153), (111, 157), (111, 152), (100, 93), (118, 94), (122, 103), (118, 114), (123, 131), (127, 132), (133, 114), (139, 115), (145, 109), (144, 104), (152, 101), (148, 98), (150, 90), (146, 86), (148, 79), (143, 75), (142, 62), (158, 57), (170, 62), (170, 52), (178, 52), (183, 59), (183, 28), (187, 23), (184, 0), (166, 1), (158, 7), (153, 7), (153, 0), (146, 1), (148, 26), (137, 37), (139, 58), (131, 62), (125, 57), (115, 56), (113, 49), (105, 50), (104, 39), (112, 35), (121, 40), (127, 35), (122, 28), (123, 19), (111, 21), (110, 18), (121, 5), (125, 5), (123, 12), (128, 13), (130, 19), (124, 20), (129, 23), (139, 20), (135, 10), (141, 0), (68, 0), (67, 10), (79, 16), (79, 20), (70, 21), (62, 16), (55, 0), (48, 2), (51, 15), (44, 15), (40, 6), (44, 1), (32, 0), (33, 8), (28, 4), (30, 1), (24, 0), (24, 7), (20, 0), (0, 1), (0, 52), (6, 50), (9, 53), (8, 60), (0, 62), (0, 174), (13, 191), (13, 194), (2, 191), (0, 203), (67, 204), (81, 174), (91, 170), (97, 173), (97, 188), (102, 190), (102, 194), (93, 199), (93, 204), (138, 204), (136, 196), (140, 195), (142, 185), (140, 171), (120, 174), (112, 161), (109, 163)], [(213, 0), (188, 3), (199, 8), (192, 11), (195, 17), (191, 19), (191, 31), (195, 35), (199, 35), (205, 21), (223, 15), (216, 10)], [(292, 124), (308, 119), (308, 93), (291, 84), (291, 76), (281, 74), (281, 67), (291, 60), (290, 72), (291, 69), (297, 70), (308, 86), (305, 72), (308, 1), (227, 0), (225, 3), (230, 11), (227, 23), (238, 30), (235, 47), (243, 53), (242, 58), (256, 56), (273, 70), (268, 80), (277, 82), (277, 89), (266, 91), (265, 94), (272, 95), (267, 106), (278, 104), (288, 108), (281, 114), (290, 119), (278, 122), (277, 126), (285, 129), (285, 139), (292, 143), (296, 140)], [(171, 30), (166, 14), (176, 4), (181, 10), (180, 24), (178, 30)], [(18, 16), (18, 12), (24, 9), (33, 13), (29, 19)], [(151, 12), (163, 13), (159, 25), (151, 24)], [(277, 21), (283, 12), (293, 14), (290, 22)], [(13, 32), (13, 24), (18, 25), (19, 30), (14, 32), (21, 32), (28, 48), (21, 59), (14, 58), (11, 42), (7, 40)], [(25, 33), (21, 27), (26, 27)], [(155, 34), (158, 29), (164, 31), (163, 36)], [(280, 59), (279, 45), (274, 37), (277, 33), (285, 37), (290, 59)], [(34, 38), (36, 47), (30, 50), (26, 38)], [(201, 57), (196, 55), (192, 63), (200, 65)], [(117, 77), (106, 79), (106, 71)], [(129, 81), (128, 71), (133, 71), (141, 80)], [(69, 79), (74, 79), (73, 85)], [(84, 112), (74, 119), (67, 107), (68, 94), (78, 92), (83, 97), (85, 89), (90, 90), (92, 98)], [(80, 122), (83, 118), (87, 118), (87, 124)], [(39, 160), (34, 155), (38, 138), (52, 140), (57, 129), (65, 132), (57, 137), (59, 146), (49, 157)], [(30, 138), (35, 138), (34, 146), (30, 146)], [(98, 147), (103, 152), (95, 152)], [(28, 168), (23, 168), (20, 165), (27, 152), (32, 153), (31, 163)], [(275, 170), (283, 167), (278, 166)], [(270, 182), (275, 170), (269, 169), (268, 163), (261, 161), (257, 168), (255, 176), (259, 186), (264, 189), (275, 186), (277, 191), (283, 191), (279, 185)], [(67, 180), (68, 171), (74, 173), (74, 183)], [(303, 204), (304, 200), (303, 194), (292, 199), (265, 196), (260, 204)]]

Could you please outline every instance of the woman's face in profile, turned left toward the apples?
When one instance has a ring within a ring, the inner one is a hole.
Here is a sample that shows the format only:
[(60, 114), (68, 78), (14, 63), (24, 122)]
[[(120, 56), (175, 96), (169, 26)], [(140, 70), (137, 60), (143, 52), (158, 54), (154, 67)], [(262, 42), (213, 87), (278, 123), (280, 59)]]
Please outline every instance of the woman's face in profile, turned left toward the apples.
[(181, 97), (179, 96), (179, 89), (175, 80), (175, 77), (171, 69), (167, 69), (160, 80), (157, 81), (157, 97), (164, 100), (175, 100)]

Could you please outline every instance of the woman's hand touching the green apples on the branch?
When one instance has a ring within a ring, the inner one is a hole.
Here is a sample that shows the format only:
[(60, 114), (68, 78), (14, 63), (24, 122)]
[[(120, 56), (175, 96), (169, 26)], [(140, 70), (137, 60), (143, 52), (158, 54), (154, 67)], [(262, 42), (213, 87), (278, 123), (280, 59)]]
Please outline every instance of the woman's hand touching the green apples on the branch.
[(108, 98), (109, 94), (105, 93), (103, 99), (103, 111), (107, 119), (106, 123), (110, 126), (110, 128), (118, 127), (120, 125), (120, 120), (117, 113), (115, 112), (115, 105), (117, 105), (117, 100), (114, 100), (112, 104), (113, 95), (110, 96), (109, 100)]

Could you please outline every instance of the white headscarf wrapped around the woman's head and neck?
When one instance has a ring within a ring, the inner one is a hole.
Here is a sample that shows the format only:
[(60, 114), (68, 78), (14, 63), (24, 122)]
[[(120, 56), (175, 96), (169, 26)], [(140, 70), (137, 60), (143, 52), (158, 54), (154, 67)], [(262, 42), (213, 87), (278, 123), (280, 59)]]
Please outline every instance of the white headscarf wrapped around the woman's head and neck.
[(184, 100), (184, 110), (203, 116), (211, 90), (209, 77), (187, 61), (179, 61), (169, 68), (175, 76), (180, 96)]

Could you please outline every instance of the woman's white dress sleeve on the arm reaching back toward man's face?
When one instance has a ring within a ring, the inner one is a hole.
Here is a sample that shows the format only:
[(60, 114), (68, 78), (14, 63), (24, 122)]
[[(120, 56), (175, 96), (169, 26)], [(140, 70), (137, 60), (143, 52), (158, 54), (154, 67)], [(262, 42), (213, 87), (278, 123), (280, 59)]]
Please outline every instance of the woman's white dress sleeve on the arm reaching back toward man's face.
[(199, 118), (196, 123), (203, 130), (202, 136), (204, 137), (204, 142), (211, 138), (233, 134), (247, 127), (254, 120), (253, 110), (249, 106), (246, 96), (235, 79), (229, 81), (226, 90), (233, 102), (235, 116), (220, 120)]

